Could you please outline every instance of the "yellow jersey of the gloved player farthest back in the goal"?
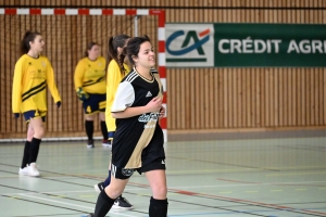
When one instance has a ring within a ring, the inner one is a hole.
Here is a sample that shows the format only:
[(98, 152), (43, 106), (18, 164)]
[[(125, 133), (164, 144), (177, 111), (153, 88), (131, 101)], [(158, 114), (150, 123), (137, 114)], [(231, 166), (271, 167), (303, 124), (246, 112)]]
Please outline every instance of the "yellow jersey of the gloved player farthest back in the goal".
[(96, 61), (82, 59), (74, 75), (75, 89), (83, 88), (88, 93), (105, 93), (105, 59), (99, 56)]

